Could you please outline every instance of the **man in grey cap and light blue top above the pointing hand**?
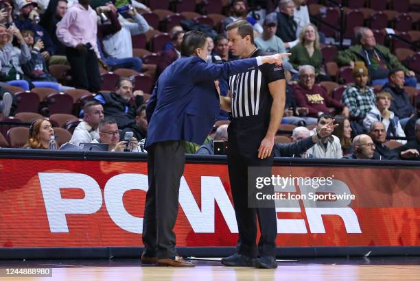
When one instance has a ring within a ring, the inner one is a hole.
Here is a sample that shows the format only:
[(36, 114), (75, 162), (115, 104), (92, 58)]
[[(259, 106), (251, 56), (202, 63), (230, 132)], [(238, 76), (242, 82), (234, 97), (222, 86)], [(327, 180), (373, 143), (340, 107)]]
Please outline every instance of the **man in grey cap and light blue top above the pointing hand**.
[[(285, 53), (285, 45), (283, 40), (276, 36), (277, 31), (277, 19), (274, 14), (266, 16), (263, 25), (263, 33), (261, 36), (255, 38), (255, 45), (259, 49), (262, 49), (268, 53)], [(284, 58), (284, 62), (287, 62), (289, 58)]]

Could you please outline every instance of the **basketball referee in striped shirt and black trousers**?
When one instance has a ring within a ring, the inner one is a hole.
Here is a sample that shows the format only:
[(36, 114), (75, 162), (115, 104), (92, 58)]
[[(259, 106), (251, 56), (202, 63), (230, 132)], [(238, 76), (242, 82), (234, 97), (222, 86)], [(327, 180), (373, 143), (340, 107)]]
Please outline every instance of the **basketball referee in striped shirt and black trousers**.
[[(253, 27), (235, 21), (226, 27), (229, 47), (235, 56), (255, 58), (265, 53), (254, 44)], [(266, 167), (271, 175), (275, 134), (283, 117), (285, 77), (281, 66), (264, 64), (231, 75), (231, 97), (220, 96), (224, 110), (231, 111), (228, 129), (228, 167), (239, 230), (237, 253), (222, 258), (226, 266), (276, 268), (277, 216), (270, 208), (248, 208), (248, 167)], [(257, 219), (261, 230), (258, 247)]]

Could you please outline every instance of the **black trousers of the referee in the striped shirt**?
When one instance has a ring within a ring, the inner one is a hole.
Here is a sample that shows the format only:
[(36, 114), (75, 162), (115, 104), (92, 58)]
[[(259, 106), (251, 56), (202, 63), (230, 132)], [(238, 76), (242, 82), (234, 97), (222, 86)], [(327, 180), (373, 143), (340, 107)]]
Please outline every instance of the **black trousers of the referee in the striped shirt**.
[[(248, 208), (248, 167), (266, 167), (263, 175), (271, 176), (273, 154), (268, 158), (258, 158), (258, 148), (266, 136), (268, 121), (261, 117), (241, 117), (233, 119), (228, 127), (228, 168), (231, 192), (239, 240), (237, 252), (255, 258), (275, 256), (277, 237), (277, 215), (273, 202), (270, 208)], [(261, 237), (258, 247), (257, 217)]]

